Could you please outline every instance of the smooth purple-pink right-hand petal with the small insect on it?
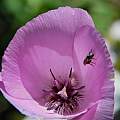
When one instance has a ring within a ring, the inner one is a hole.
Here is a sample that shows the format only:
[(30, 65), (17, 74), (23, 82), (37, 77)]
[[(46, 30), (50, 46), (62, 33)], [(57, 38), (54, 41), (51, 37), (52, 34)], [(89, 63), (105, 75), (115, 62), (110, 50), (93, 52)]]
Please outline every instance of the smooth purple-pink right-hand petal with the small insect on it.
[[(86, 98), (88, 102), (96, 101), (101, 97), (100, 90), (104, 81), (113, 77), (113, 66), (105, 41), (90, 26), (78, 29), (74, 41), (74, 61), (77, 61), (74, 63), (80, 69), (79, 74), (86, 84)], [(95, 64), (84, 65), (83, 62), (91, 49), (94, 52)]]

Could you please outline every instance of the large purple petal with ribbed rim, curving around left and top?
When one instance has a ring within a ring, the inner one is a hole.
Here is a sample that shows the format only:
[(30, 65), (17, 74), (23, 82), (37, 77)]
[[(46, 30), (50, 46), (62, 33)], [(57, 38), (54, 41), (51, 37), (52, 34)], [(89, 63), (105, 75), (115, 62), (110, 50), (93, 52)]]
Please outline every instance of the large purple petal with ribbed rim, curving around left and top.
[(94, 27), (86, 11), (63, 7), (38, 16), (17, 31), (3, 57), (0, 85), (20, 111), (25, 109), (31, 114), (31, 95), (39, 100), (41, 90), (53, 79), (50, 68), (56, 77), (68, 74), (73, 67), (74, 33), (83, 25)]

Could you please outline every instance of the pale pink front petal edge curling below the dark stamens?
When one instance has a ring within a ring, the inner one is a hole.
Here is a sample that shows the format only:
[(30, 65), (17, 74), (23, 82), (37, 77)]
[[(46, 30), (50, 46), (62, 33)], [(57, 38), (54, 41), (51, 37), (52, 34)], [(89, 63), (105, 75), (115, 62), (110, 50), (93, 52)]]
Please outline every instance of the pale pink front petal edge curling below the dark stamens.
[(17, 99), (14, 97), (9, 96), (5, 91), (1, 90), (5, 98), (13, 104), (22, 114), (25, 114), (29, 117), (34, 117), (34, 118), (44, 118), (46, 120), (49, 119), (72, 119), (76, 116), (82, 117), (84, 114), (89, 112), (94, 106), (97, 105), (97, 103), (93, 103), (90, 105), (88, 108), (84, 109), (84, 111), (75, 114), (75, 115), (59, 115), (54, 113), (54, 111), (48, 111), (45, 107), (40, 106), (36, 101), (33, 99), (31, 100), (25, 100), (25, 99)]

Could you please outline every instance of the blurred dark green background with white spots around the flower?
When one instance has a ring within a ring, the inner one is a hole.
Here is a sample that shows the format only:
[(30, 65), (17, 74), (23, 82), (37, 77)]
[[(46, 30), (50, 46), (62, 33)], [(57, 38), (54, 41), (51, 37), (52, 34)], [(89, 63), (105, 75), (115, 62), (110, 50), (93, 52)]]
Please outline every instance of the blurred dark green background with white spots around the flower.
[[(98, 31), (107, 39), (116, 69), (115, 120), (120, 120), (120, 0), (0, 0), (0, 61), (18, 28), (37, 15), (60, 6), (87, 10)], [(0, 94), (0, 120), (24, 119), (25, 116)]]

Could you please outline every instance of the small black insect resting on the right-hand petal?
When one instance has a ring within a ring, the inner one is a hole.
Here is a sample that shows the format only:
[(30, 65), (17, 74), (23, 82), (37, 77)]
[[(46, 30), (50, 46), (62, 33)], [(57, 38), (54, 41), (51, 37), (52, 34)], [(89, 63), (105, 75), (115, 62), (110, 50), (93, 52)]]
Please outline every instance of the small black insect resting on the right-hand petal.
[(95, 63), (93, 62), (93, 59), (95, 59), (94, 56), (95, 56), (94, 51), (93, 49), (91, 49), (86, 58), (84, 59), (83, 64), (84, 65), (90, 64), (92, 66), (95, 65)]

